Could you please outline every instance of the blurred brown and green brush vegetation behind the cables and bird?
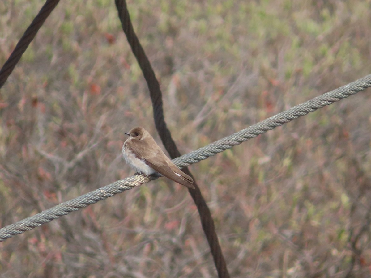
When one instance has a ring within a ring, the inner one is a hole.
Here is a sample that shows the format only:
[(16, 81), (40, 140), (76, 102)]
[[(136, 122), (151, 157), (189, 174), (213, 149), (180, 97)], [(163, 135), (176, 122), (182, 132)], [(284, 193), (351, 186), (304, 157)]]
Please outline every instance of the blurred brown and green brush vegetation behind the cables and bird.
[[(0, 2), (0, 64), (43, 1)], [(128, 1), (183, 153), (371, 73), (371, 1)], [(370, 89), (190, 167), (232, 277), (370, 277)], [(60, 1), (0, 95), (0, 225), (132, 175), (158, 140), (114, 1)], [(160, 178), (0, 244), (0, 277), (215, 277)], [(347, 276), (348, 275), (348, 276)]]

